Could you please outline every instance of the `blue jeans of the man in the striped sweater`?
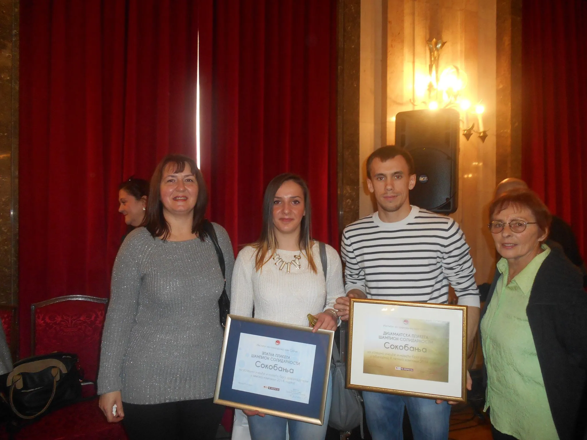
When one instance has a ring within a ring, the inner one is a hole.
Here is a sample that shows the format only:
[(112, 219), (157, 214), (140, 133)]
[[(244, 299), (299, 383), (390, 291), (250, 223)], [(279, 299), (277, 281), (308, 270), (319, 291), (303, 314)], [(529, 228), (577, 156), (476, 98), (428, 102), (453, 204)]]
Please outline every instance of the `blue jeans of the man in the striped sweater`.
[(414, 440), (447, 440), (450, 405), (432, 399), (363, 391), (367, 427), (373, 440), (403, 440), (404, 407)]

